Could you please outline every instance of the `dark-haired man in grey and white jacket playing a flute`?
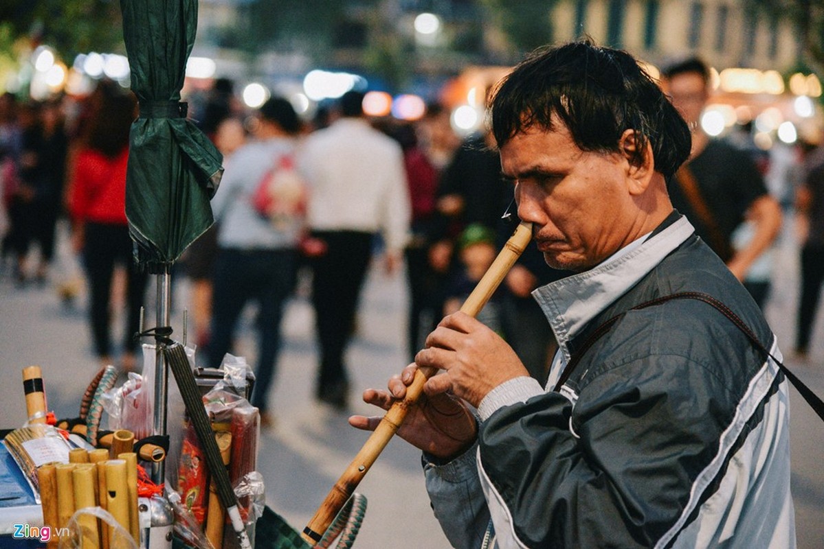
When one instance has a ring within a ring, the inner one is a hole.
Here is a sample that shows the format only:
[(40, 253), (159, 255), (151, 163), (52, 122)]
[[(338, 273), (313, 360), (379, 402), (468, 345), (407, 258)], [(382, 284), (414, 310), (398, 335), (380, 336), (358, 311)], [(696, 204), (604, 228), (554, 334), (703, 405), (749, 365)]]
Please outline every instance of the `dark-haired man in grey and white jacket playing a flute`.
[(780, 359), (775, 336), (667, 194), (686, 123), (630, 55), (588, 42), (522, 62), (491, 113), (518, 216), (573, 272), (534, 292), (560, 346), (549, 383), (456, 313), (363, 393), (386, 409), (415, 368), (442, 370), (398, 434), (424, 450), (449, 541), (794, 547), (787, 383), (714, 300)]

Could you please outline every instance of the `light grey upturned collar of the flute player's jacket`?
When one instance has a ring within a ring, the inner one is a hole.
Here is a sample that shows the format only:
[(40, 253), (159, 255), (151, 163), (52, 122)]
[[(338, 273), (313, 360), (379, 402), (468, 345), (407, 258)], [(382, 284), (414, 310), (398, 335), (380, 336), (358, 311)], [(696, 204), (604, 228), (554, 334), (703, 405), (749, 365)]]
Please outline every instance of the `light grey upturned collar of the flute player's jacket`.
[[(587, 323), (652, 271), (695, 232), (685, 216), (673, 211), (641, 244), (629, 244), (589, 271), (550, 282), (532, 292), (550, 322), (559, 351), (569, 361), (569, 341)], [(635, 245), (634, 245), (635, 244)]]

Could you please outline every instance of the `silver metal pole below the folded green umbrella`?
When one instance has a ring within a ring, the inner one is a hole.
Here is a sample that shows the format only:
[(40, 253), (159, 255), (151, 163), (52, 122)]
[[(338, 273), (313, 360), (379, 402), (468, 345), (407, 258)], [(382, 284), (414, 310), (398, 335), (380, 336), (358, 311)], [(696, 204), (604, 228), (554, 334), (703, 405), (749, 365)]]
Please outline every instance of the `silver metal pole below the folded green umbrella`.
[[(157, 274), (157, 326), (171, 326), (171, 264), (164, 263)], [(169, 390), (169, 365), (166, 363), (162, 337), (155, 337), (154, 418), (152, 432), (166, 435), (166, 400)], [(166, 477), (166, 460), (152, 463), (152, 482), (162, 484)]]

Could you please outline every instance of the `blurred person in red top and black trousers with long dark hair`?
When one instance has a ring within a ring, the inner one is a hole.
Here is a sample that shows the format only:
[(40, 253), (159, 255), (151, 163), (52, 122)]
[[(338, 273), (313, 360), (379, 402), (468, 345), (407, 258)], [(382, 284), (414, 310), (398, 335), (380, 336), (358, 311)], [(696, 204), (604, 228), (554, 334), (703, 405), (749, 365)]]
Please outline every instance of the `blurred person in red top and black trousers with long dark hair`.
[(135, 365), (140, 307), (146, 292), (147, 273), (133, 262), (132, 240), (126, 220), (126, 164), (129, 159), (129, 128), (136, 115), (131, 93), (115, 84), (101, 83), (99, 103), (91, 114), (87, 133), (73, 156), (68, 193), (73, 220), (73, 245), (82, 253), (89, 291), (89, 321), (96, 355), (111, 364), (112, 280), (115, 265), (123, 265), (125, 319), (123, 370)]

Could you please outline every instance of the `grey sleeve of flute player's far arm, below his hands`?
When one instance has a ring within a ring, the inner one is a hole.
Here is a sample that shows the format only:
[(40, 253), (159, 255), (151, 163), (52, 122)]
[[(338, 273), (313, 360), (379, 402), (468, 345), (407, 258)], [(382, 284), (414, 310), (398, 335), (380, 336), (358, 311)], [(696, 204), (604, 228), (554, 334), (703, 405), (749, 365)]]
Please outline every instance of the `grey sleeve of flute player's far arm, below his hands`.
[(444, 464), (424, 454), (426, 490), (443, 533), (457, 549), (477, 549), (489, 524), (489, 509), (480, 486), (478, 445)]

